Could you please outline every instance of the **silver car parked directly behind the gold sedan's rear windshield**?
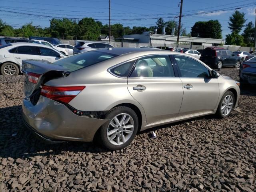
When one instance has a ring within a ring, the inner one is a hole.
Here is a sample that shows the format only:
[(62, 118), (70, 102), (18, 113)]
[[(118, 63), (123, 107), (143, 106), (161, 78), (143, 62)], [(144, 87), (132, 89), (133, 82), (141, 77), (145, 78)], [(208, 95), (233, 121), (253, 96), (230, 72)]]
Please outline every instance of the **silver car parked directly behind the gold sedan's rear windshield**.
[(73, 48), (73, 55), (101, 48), (113, 48), (113, 46), (104, 42), (77, 40), (76, 46)]

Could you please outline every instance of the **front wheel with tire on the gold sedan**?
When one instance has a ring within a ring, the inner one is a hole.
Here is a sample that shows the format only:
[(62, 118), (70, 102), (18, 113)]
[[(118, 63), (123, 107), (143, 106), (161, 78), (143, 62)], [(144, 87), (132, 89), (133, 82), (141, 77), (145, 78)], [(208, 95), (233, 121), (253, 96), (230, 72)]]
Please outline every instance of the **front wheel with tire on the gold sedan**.
[(216, 115), (220, 118), (230, 116), (235, 104), (235, 96), (231, 91), (227, 91), (221, 98)]

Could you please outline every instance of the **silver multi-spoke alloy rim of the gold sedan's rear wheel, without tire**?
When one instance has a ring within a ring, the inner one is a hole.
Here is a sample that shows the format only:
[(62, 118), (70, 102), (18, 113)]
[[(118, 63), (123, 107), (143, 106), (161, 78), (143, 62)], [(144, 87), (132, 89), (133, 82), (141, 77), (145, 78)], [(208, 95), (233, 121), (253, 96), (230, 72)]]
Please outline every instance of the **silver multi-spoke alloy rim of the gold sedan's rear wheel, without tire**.
[(108, 124), (107, 138), (113, 145), (122, 145), (134, 132), (134, 120), (127, 113), (116, 115)]

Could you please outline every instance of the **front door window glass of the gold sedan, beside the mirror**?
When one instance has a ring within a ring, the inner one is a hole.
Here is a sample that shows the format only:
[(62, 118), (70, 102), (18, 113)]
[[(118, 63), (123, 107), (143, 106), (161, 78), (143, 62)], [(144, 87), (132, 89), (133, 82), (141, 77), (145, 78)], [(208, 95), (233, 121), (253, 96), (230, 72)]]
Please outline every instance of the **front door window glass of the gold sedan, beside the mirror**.
[(174, 56), (182, 78), (210, 78), (210, 70), (200, 62), (184, 56)]

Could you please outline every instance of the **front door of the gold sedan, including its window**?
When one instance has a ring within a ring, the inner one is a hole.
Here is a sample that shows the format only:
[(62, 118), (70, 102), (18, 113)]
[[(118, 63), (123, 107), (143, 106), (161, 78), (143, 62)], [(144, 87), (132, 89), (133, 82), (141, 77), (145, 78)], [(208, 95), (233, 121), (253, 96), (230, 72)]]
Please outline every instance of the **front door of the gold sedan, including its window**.
[(183, 100), (178, 117), (213, 112), (219, 98), (217, 78), (211, 78), (211, 71), (186, 56), (174, 56), (183, 88)]

